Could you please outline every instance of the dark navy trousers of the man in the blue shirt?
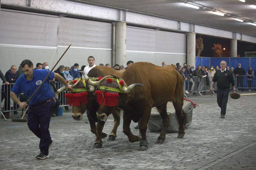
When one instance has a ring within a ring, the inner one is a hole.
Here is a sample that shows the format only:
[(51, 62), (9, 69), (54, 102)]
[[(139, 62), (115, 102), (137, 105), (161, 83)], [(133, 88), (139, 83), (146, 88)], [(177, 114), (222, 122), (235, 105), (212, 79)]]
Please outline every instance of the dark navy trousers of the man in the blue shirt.
[(29, 129), (40, 138), (39, 148), (41, 153), (49, 154), (50, 132), (49, 124), (52, 115), (52, 109), (55, 101), (45, 102), (43, 104), (29, 105), (27, 113), (27, 125)]

